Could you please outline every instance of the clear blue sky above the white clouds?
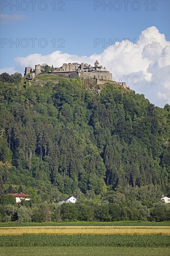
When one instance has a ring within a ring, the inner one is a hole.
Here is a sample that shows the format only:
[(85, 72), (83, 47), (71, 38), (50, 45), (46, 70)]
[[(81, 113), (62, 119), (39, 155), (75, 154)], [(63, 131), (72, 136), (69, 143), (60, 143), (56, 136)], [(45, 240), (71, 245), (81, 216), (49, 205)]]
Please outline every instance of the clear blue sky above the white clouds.
[[(103, 42), (109, 40), (115, 42), (115, 39), (122, 41), (124, 38), (131, 41), (139, 38), (142, 31), (148, 27), (156, 27), (159, 34), (164, 34), (166, 41), (170, 40), (169, 0), (1, 0), (0, 4), (0, 68), (2, 71), (13, 68), (23, 73), (22, 65), (16, 64), (15, 58), (27, 58), (30, 54), (46, 56), (55, 51), (87, 57), (102, 54), (112, 44), (103, 45)], [(110, 6), (107, 7), (107, 5)], [(31, 38), (34, 38), (34, 47)], [(96, 47), (94, 47), (95, 38), (100, 39)], [(146, 39), (145, 37), (144, 40)], [(158, 44), (158, 38), (156, 40)], [(14, 41), (17, 41), (17, 45), (12, 44)], [(45, 47), (43, 47), (44, 43), (46, 43)], [(29, 61), (33, 66), (34, 62), (31, 58)], [(61, 58), (60, 65), (62, 61)], [(164, 99), (160, 104), (164, 104), (165, 101)], [(158, 104), (158, 101), (155, 104)]]

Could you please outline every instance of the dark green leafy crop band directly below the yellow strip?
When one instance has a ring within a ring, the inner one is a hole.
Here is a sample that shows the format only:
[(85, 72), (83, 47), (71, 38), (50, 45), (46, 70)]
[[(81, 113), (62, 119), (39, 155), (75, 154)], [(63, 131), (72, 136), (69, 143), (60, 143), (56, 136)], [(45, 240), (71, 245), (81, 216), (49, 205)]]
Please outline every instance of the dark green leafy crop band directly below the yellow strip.
[(19, 235), (0, 236), (0, 247), (26, 246), (170, 247), (162, 235)]

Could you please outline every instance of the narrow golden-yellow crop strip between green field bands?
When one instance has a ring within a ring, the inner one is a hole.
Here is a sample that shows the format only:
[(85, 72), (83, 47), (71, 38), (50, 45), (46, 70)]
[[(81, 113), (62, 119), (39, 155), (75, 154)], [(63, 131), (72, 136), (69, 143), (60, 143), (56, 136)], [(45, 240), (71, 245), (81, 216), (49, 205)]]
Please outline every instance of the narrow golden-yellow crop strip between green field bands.
[(29, 226), (1, 227), (0, 235), (58, 234), (58, 235), (170, 235), (168, 226)]

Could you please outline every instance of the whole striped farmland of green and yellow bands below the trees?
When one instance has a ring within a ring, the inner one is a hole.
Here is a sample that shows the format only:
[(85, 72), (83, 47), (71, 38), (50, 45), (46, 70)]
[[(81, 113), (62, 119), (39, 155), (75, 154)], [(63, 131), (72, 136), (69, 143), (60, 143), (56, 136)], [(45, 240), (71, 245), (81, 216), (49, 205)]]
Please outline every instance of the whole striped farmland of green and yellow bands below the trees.
[(170, 222), (0, 223), (0, 256), (169, 256)]

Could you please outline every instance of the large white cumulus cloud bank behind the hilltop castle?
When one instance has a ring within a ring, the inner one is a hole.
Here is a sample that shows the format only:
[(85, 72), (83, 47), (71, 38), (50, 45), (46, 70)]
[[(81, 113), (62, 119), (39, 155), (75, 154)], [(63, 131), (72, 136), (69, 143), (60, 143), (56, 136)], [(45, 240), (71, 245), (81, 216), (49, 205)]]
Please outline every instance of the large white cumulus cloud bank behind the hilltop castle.
[(112, 72), (115, 81), (126, 79), (127, 86), (144, 94), (151, 103), (159, 107), (170, 104), (170, 42), (157, 27), (148, 27), (142, 31), (136, 44), (123, 40), (106, 48), (101, 54), (92, 54), (89, 57), (60, 51), (48, 55), (30, 54), (25, 58), (17, 57), (15, 69), (24, 71), (30, 63), (32, 66), (48, 63), (54, 67), (68, 62), (92, 65), (96, 60)]

